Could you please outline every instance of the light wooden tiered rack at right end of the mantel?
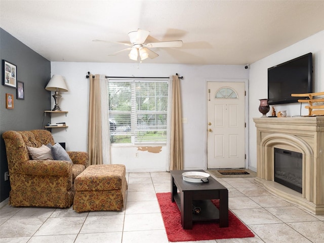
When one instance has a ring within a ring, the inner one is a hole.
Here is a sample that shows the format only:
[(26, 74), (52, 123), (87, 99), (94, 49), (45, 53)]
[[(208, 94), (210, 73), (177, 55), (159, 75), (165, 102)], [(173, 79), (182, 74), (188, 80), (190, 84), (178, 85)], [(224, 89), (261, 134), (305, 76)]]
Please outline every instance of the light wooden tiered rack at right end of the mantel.
[[(308, 109), (308, 115), (324, 115), (324, 98), (313, 99), (314, 96), (324, 96), (324, 92), (306, 93), (306, 94), (292, 94), (293, 97), (308, 97), (309, 100), (298, 100), (300, 103), (308, 103), (305, 108)], [(320, 110), (313, 110), (320, 109)]]

